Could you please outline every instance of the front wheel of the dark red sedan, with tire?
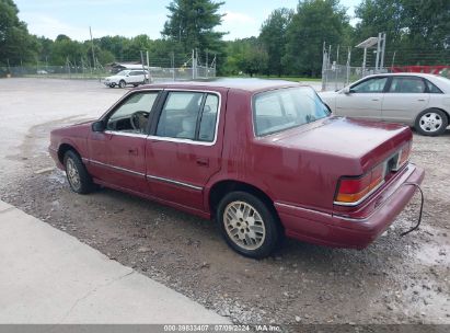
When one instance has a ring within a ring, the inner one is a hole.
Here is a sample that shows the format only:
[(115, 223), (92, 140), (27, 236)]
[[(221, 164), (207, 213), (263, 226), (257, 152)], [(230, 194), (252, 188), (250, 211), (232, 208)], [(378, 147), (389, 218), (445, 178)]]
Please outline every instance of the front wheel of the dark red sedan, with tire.
[(80, 157), (72, 150), (65, 154), (64, 159), (66, 176), (70, 188), (78, 194), (88, 194), (93, 191), (94, 183), (88, 173)]

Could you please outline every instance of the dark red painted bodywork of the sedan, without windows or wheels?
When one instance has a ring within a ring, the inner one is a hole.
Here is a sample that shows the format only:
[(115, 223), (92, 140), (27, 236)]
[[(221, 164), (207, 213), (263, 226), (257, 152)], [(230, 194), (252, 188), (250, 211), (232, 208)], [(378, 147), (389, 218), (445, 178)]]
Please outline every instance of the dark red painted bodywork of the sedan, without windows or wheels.
[(253, 96), (290, 87), (299, 85), (227, 80), (141, 87), (124, 99), (149, 89), (218, 93), (221, 103), (216, 141), (201, 146), (166, 141), (154, 135), (95, 133), (89, 122), (51, 131), (49, 151), (64, 169), (62, 152), (71, 148), (81, 156), (95, 183), (204, 218), (214, 217), (211, 193), (216, 186), (223, 182), (250, 185), (270, 199), (288, 237), (330, 246), (366, 248), (414, 195), (413, 186), (402, 184), (420, 183), (424, 171), (406, 163), (353, 207), (334, 204), (339, 177), (365, 174), (399, 152), (412, 140), (412, 133), (401, 125), (328, 116), (256, 137)]

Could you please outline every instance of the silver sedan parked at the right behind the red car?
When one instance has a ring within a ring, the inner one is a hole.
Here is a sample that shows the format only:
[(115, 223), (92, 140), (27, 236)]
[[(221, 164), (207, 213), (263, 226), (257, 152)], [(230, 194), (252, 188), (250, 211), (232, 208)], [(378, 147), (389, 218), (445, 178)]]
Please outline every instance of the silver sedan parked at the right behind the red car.
[(450, 120), (450, 80), (434, 74), (374, 74), (320, 96), (336, 115), (402, 123), (426, 136), (443, 134)]

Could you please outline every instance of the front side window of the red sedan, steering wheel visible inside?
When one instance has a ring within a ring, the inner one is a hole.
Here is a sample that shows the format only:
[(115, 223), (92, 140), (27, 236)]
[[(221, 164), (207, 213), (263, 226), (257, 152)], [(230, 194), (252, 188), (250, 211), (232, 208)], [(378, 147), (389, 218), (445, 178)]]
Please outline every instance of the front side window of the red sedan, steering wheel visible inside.
[(106, 130), (143, 134), (158, 92), (136, 92), (107, 118)]

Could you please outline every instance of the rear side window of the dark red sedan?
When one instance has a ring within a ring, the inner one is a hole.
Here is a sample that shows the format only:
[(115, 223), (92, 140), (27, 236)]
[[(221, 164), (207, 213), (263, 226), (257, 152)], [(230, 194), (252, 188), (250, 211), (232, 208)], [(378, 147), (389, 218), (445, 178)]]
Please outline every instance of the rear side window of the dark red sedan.
[(212, 142), (219, 97), (204, 92), (169, 92), (157, 136)]

